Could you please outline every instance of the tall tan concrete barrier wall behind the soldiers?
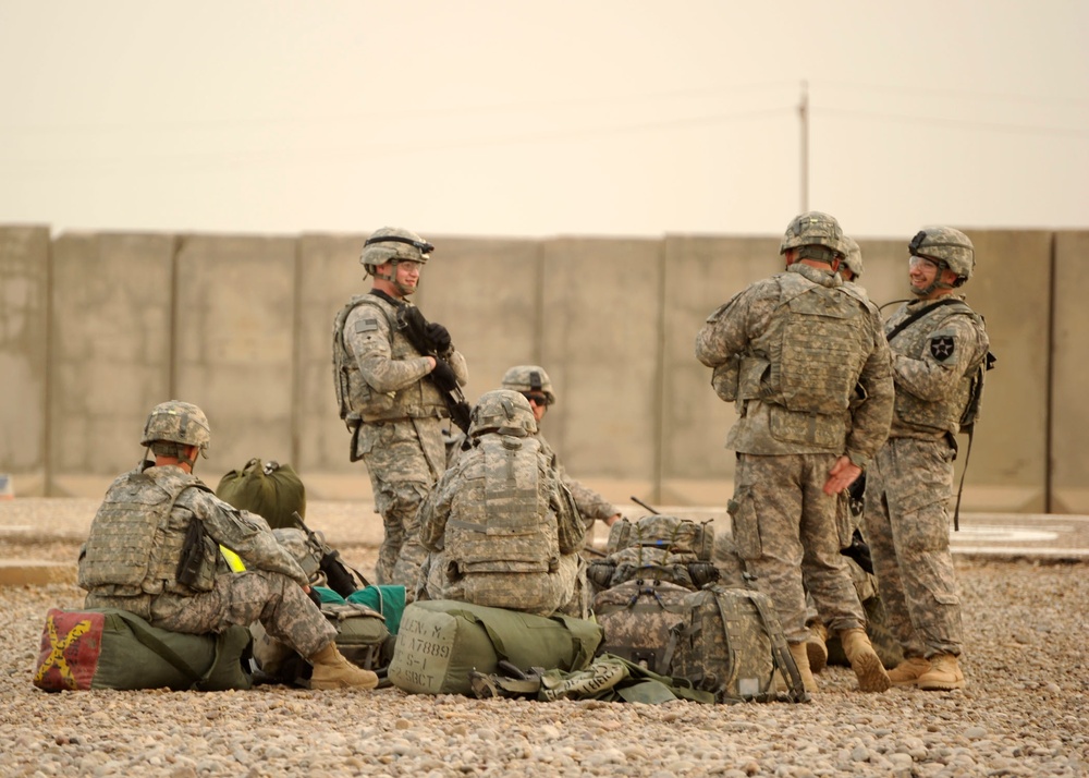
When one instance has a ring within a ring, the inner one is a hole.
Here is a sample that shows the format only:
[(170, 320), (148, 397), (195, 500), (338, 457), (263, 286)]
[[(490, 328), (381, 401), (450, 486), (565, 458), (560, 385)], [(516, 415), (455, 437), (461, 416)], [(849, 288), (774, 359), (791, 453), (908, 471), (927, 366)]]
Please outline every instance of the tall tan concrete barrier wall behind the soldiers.
[[(963, 508), (1089, 511), (1089, 233), (968, 232), (979, 266), (966, 292), (999, 364)], [(19, 494), (100, 495), (138, 458), (147, 411), (176, 397), (211, 420), (198, 473), (212, 486), (257, 455), (292, 462), (317, 497), (368, 497), (365, 469), (347, 461), (330, 351), (337, 311), (369, 289), (365, 236), (50, 242), (46, 228), (0, 228), (0, 473)], [(470, 402), (510, 365), (541, 364), (559, 397), (542, 429), (568, 472), (619, 503), (724, 505), (735, 416), (693, 344), (714, 308), (781, 269), (778, 238), (428, 238), (439, 248), (417, 303), (465, 353)], [(905, 299), (907, 238), (858, 240), (871, 299)]]

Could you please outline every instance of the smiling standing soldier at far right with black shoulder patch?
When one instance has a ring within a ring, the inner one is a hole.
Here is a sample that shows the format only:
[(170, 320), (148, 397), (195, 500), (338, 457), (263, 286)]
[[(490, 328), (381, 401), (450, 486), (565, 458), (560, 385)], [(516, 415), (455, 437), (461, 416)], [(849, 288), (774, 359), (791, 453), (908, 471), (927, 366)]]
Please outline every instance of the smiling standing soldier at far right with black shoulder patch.
[(928, 227), (908, 251), (916, 300), (885, 323), (896, 403), (889, 440), (867, 475), (866, 537), (889, 623), (906, 657), (889, 673), (892, 682), (951, 690), (965, 680), (957, 661), (964, 637), (946, 503), (954, 435), (989, 342), (983, 319), (955, 291), (976, 265), (968, 236)]

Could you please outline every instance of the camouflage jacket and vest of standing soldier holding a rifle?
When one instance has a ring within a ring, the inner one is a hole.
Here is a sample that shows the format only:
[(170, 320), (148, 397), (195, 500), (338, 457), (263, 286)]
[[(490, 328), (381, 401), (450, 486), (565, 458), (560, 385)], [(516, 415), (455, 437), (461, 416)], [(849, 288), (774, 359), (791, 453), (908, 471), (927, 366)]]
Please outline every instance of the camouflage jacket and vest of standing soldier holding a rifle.
[[(357, 372), (353, 381), (362, 379), (366, 384), (365, 387), (354, 384), (352, 403), (358, 403), (360, 390), (374, 394), (366, 408), (356, 406), (352, 411), (364, 422), (449, 416), (439, 390), (431, 381), (424, 380), (431, 372), (429, 361), (396, 327), (397, 308), (377, 294), (362, 294), (352, 302), (355, 305), (344, 320), (343, 330), (345, 348), (353, 357), (347, 369)], [(454, 350), (443, 358), (450, 363), (457, 382), (464, 386), (468, 381), (465, 357)]]

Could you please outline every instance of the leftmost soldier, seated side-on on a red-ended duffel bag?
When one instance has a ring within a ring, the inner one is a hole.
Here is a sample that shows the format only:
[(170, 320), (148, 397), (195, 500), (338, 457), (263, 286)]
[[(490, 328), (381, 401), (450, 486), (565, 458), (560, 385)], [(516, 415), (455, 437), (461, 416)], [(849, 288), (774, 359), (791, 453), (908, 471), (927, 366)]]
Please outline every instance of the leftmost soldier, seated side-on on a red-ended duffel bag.
[[(255, 513), (223, 502), (193, 475), (211, 440), (204, 412), (157, 405), (140, 442), (155, 453), (106, 493), (79, 556), (86, 607), (120, 608), (174, 632), (259, 621), (314, 666), (314, 689), (374, 689), (378, 677), (337, 649), (335, 628), (307, 596), (306, 573)], [(223, 546), (245, 563), (232, 572)]]

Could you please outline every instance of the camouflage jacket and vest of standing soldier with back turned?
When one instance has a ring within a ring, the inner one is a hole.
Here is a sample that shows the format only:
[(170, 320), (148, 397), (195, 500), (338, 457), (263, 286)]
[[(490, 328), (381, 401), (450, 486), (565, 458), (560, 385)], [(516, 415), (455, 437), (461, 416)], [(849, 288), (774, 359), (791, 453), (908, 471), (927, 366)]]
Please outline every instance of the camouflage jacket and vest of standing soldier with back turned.
[[(825, 329), (799, 348), (793, 305), (809, 292), (816, 294), (808, 305), (837, 314), (833, 320), (843, 324), (831, 326), (842, 338)], [(792, 349), (795, 384), (788, 386), (784, 355)], [(712, 313), (696, 337), (696, 357), (708, 367), (738, 356), (741, 418), (727, 447), (766, 455), (845, 453), (859, 466), (869, 464), (889, 434), (894, 388), (881, 318), (857, 287), (803, 263), (750, 284)], [(792, 397), (805, 393), (818, 404), (791, 410)]]

